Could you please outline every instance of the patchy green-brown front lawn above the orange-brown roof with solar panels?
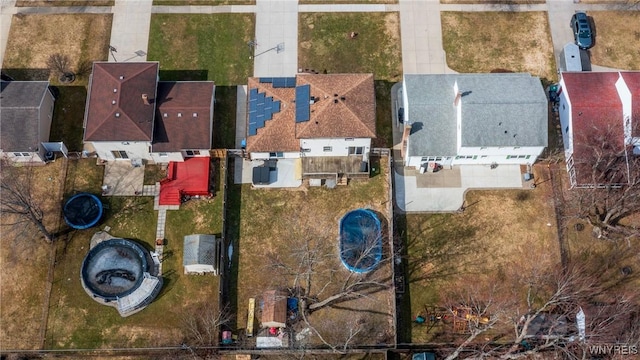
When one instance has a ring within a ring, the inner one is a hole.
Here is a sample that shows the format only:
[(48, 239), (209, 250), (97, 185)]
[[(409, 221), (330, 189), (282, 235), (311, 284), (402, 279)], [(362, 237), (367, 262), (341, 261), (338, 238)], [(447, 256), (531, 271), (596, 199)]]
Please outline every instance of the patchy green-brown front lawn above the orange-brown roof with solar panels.
[[(301, 13), (299, 19), (299, 68), (373, 73), (376, 80), (400, 80), (398, 13)], [(357, 32), (357, 37), (351, 39), (351, 32)]]

